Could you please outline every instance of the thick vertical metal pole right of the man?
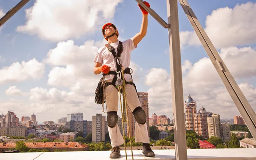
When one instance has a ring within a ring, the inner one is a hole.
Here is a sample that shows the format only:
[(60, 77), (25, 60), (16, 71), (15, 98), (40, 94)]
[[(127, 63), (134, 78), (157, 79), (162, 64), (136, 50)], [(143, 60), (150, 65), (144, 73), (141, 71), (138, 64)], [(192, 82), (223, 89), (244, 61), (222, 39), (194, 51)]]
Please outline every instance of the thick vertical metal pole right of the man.
[(176, 160), (187, 160), (184, 99), (182, 86), (180, 33), (177, 0), (167, 0), (169, 52), (172, 82), (172, 114), (174, 119), (174, 139)]

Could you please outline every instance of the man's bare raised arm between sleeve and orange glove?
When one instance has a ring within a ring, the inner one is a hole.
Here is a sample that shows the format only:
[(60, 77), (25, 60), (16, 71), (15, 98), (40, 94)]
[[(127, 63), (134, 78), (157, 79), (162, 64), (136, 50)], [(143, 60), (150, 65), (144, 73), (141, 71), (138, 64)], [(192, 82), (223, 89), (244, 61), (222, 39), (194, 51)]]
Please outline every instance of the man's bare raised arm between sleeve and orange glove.
[(135, 36), (133, 36), (133, 43), (134, 46), (136, 46), (141, 39), (146, 36), (147, 34), (147, 28), (148, 28), (148, 15), (142, 14), (142, 22), (140, 27), (140, 32), (137, 33)]

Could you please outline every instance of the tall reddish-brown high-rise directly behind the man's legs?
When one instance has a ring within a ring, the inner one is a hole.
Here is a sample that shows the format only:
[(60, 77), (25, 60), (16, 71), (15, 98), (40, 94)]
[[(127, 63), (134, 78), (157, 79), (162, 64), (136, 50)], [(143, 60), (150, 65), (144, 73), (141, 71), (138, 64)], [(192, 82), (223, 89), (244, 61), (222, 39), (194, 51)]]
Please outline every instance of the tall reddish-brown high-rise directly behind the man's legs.
[[(141, 104), (141, 108), (145, 111), (146, 117), (147, 117), (147, 127), (148, 127), (148, 134), (149, 134), (149, 117), (148, 117), (148, 93), (146, 92), (138, 92), (139, 100)], [(134, 136), (135, 131), (135, 123), (136, 120), (132, 114), (132, 112), (128, 109), (128, 119), (129, 119), (129, 129), (130, 129), (130, 135), (131, 137)], [(128, 133), (128, 126), (126, 132)], [(128, 135), (128, 134), (127, 134)]]

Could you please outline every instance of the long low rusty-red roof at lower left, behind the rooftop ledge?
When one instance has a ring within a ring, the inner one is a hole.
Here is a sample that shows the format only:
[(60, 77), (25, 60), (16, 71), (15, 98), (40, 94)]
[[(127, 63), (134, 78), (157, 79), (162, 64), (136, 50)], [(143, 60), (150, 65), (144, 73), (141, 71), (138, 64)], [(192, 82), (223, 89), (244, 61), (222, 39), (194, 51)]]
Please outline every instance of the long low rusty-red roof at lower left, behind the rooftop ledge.
[[(0, 143), (0, 148), (15, 148), (16, 143)], [(28, 148), (86, 148), (88, 145), (79, 142), (29, 142), (25, 143)]]

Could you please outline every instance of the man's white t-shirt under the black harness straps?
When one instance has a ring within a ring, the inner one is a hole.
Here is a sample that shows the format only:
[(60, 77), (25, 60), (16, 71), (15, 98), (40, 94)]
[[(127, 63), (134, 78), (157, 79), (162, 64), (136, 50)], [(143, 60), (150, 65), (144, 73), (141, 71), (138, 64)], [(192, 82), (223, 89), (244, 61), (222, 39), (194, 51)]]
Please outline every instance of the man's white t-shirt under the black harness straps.
[[(119, 44), (119, 41), (110, 44), (112, 47), (115, 48), (115, 52), (117, 50), (118, 44)], [(130, 66), (131, 52), (136, 47), (137, 46), (134, 46), (132, 38), (127, 39), (126, 41), (123, 42), (123, 52), (121, 53), (120, 60), (124, 69)], [(105, 45), (101, 47), (96, 53), (94, 62), (101, 63), (102, 65), (105, 64), (111, 67), (110, 68), (111, 71), (116, 71), (116, 60), (112, 55), (112, 53), (108, 51), (108, 48)], [(114, 78), (114, 75), (107, 75), (105, 76), (105, 81), (113, 78)], [(124, 74), (124, 78), (126, 81), (132, 80), (132, 77), (130, 74)]]

